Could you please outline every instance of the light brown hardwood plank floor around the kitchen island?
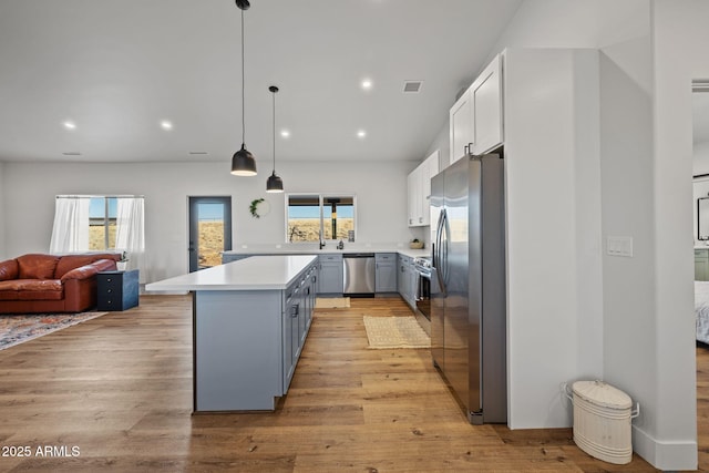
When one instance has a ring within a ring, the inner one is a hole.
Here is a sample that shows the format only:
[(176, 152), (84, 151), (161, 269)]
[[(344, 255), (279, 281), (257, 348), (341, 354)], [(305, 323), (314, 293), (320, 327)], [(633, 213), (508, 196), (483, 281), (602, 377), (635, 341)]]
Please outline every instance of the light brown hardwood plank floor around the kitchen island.
[[(31, 451), (0, 456), (0, 471), (655, 471), (595, 460), (571, 429), (470, 425), (429, 350), (367, 349), (363, 315), (409, 313), (394, 298), (318, 310), (275, 412), (192, 415), (191, 310), (188, 296), (145, 296), (0, 351), (0, 453)], [(697, 350), (707, 469), (709, 356)], [(62, 456), (38, 455), (47, 446)]]

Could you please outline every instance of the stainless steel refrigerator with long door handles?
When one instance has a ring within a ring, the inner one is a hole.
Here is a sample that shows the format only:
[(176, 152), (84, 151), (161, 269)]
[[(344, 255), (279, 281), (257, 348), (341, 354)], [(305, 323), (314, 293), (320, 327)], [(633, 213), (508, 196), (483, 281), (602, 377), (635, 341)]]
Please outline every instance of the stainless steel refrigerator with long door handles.
[(431, 179), (431, 353), (471, 423), (507, 422), (504, 165), (464, 156)]

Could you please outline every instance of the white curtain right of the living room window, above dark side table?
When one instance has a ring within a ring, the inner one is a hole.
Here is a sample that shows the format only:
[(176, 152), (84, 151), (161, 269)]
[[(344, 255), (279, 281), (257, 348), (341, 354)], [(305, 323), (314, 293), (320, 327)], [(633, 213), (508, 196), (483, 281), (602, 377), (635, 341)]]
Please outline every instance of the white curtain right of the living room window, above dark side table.
[[(123, 269), (141, 269), (145, 259), (145, 208), (142, 197), (116, 199), (115, 249), (125, 251), (127, 261)], [(144, 271), (141, 271), (144, 273)], [(141, 280), (144, 275), (141, 274)]]

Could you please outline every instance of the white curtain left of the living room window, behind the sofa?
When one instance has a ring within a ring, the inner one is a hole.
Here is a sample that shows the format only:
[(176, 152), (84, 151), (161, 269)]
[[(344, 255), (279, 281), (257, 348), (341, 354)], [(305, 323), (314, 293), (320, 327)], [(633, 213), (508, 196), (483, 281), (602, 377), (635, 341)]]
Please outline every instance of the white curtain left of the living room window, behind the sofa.
[(54, 204), (54, 227), (49, 253), (89, 250), (89, 198), (61, 196)]

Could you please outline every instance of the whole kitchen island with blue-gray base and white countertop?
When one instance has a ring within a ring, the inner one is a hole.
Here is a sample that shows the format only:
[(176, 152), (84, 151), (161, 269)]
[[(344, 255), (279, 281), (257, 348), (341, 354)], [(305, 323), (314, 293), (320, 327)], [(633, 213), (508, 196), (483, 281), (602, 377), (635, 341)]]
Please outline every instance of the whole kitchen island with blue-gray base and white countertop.
[(312, 320), (316, 263), (255, 256), (146, 286), (193, 292), (195, 412), (276, 408)]

